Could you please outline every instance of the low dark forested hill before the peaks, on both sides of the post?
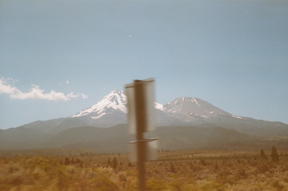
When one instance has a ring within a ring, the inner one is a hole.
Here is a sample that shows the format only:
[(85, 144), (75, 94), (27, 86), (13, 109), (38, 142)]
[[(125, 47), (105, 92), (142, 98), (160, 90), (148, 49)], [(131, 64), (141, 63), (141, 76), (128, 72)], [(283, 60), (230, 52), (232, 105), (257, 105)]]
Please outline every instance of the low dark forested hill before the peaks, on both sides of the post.
[[(77, 135), (77, 136), (76, 136)], [(74, 138), (73, 138), (74, 137)], [(156, 131), (145, 133), (145, 137), (157, 137), (159, 150), (218, 149), (221, 145), (255, 143), (259, 137), (239, 133), (223, 127), (161, 126)], [(126, 125), (110, 128), (81, 127), (58, 133), (52, 141), (61, 148), (85, 147), (102, 152), (129, 152), (128, 142), (135, 135), (127, 135)], [(233, 149), (232, 147), (229, 149)]]

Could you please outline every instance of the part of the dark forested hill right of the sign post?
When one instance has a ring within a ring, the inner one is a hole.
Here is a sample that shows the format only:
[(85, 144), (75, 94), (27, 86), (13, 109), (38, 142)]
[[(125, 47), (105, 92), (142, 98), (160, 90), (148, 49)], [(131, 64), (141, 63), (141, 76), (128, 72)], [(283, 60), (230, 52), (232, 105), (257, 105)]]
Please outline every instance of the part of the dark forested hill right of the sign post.
[(196, 127), (196, 126), (162, 126), (155, 133), (159, 138), (160, 149), (196, 149), (199, 147), (216, 148), (226, 143), (251, 142), (258, 138), (239, 133), (232, 129), (223, 127)]

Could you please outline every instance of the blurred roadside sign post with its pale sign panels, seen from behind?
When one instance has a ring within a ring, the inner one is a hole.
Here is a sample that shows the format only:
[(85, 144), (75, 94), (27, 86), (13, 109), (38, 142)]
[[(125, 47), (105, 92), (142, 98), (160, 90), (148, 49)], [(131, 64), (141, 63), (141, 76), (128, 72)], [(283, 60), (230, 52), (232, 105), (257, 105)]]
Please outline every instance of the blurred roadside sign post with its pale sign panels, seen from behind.
[(128, 133), (136, 134), (130, 143), (130, 161), (138, 162), (139, 190), (145, 190), (145, 161), (156, 160), (157, 139), (144, 139), (144, 133), (156, 126), (154, 78), (134, 80), (125, 86), (128, 103)]

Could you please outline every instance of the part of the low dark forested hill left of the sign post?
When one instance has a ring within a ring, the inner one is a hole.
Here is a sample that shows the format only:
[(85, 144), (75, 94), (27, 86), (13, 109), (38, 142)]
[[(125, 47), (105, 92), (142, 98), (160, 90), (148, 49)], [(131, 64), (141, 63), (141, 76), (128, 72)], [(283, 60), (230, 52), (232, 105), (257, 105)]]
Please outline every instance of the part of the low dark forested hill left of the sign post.
[(128, 152), (128, 142), (135, 139), (127, 134), (127, 125), (109, 128), (78, 127), (58, 133), (51, 141), (62, 149), (89, 148), (106, 153)]

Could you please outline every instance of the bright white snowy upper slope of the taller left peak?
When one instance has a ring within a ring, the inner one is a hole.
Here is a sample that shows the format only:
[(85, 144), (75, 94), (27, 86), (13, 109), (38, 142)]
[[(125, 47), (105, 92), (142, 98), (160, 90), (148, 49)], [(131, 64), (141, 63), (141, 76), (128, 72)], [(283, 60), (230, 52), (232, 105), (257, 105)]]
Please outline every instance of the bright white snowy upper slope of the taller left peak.
[(95, 114), (92, 116), (92, 119), (101, 118), (105, 113), (105, 110), (108, 108), (113, 108), (115, 110), (120, 110), (124, 113), (127, 113), (127, 103), (126, 103), (126, 94), (124, 91), (114, 90), (111, 91), (107, 96), (105, 96), (101, 101), (93, 105), (88, 109), (84, 109), (74, 116), (71, 117), (80, 117), (86, 116), (88, 114)]

